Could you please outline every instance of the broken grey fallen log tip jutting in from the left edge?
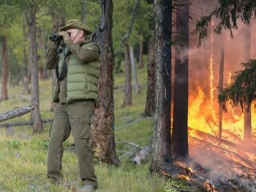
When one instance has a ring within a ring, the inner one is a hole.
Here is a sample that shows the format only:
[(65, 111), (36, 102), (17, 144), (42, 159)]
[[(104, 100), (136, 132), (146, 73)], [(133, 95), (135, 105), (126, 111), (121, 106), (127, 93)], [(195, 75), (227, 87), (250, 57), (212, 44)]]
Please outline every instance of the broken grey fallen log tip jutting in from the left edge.
[(16, 110), (10, 110), (4, 114), (0, 114), (0, 122), (9, 120), (11, 118), (20, 117), (23, 114), (28, 114), (28, 113), (30, 113), (31, 110), (34, 110), (34, 108), (37, 106), (38, 106), (37, 104), (31, 104), (29, 106), (24, 106), (22, 108), (18, 108)]

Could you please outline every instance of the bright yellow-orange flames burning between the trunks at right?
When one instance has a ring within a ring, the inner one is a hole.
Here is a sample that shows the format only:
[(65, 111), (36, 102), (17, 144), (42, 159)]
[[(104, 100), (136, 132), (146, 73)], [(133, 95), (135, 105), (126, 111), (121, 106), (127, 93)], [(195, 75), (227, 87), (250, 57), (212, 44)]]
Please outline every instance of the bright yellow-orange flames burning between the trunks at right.
[[(190, 94), (191, 95), (191, 94)], [(210, 101), (206, 99), (205, 93), (201, 86), (189, 98), (189, 114), (188, 126), (196, 130), (201, 130), (207, 134), (218, 135), (218, 121), (216, 114), (218, 113), (218, 102), (214, 101), (215, 105), (211, 106)], [(256, 105), (256, 102), (252, 106)], [(252, 111), (252, 134), (256, 134), (256, 109)], [(243, 138), (243, 114), (239, 107), (232, 108), (227, 103), (227, 112), (223, 112), (223, 138), (230, 142), (238, 142)], [(193, 136), (190, 131), (190, 135)]]

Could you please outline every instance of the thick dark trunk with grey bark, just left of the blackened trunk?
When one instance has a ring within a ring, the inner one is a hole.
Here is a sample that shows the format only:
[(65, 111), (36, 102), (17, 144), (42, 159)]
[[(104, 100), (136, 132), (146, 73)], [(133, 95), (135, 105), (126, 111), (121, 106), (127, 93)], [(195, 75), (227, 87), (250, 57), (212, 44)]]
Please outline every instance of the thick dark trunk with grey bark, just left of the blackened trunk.
[(154, 1), (155, 121), (151, 172), (173, 165), (170, 148), (171, 13), (172, 1)]

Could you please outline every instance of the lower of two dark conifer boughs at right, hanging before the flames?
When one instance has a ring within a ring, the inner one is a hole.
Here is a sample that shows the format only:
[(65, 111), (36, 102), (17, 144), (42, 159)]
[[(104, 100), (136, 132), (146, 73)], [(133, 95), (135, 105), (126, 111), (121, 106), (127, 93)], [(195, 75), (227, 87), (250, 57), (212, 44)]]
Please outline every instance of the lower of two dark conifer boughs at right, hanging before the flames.
[(242, 110), (244, 104), (248, 104), (246, 110), (249, 110), (250, 103), (256, 99), (256, 60), (242, 63), (244, 70), (238, 71), (233, 77), (230, 85), (218, 94), (218, 102), (223, 103), (223, 109), (226, 110), (226, 102), (238, 106)]

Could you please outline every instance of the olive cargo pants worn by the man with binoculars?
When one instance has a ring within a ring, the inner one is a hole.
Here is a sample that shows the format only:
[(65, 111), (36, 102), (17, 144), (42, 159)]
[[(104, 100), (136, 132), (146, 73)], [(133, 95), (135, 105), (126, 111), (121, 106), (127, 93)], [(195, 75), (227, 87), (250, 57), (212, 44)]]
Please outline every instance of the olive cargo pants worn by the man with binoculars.
[(84, 184), (97, 186), (90, 142), (90, 118), (94, 112), (93, 101), (58, 103), (50, 128), (47, 176), (59, 180), (62, 170), (62, 142), (70, 136), (74, 138), (77, 150), (80, 178)]

